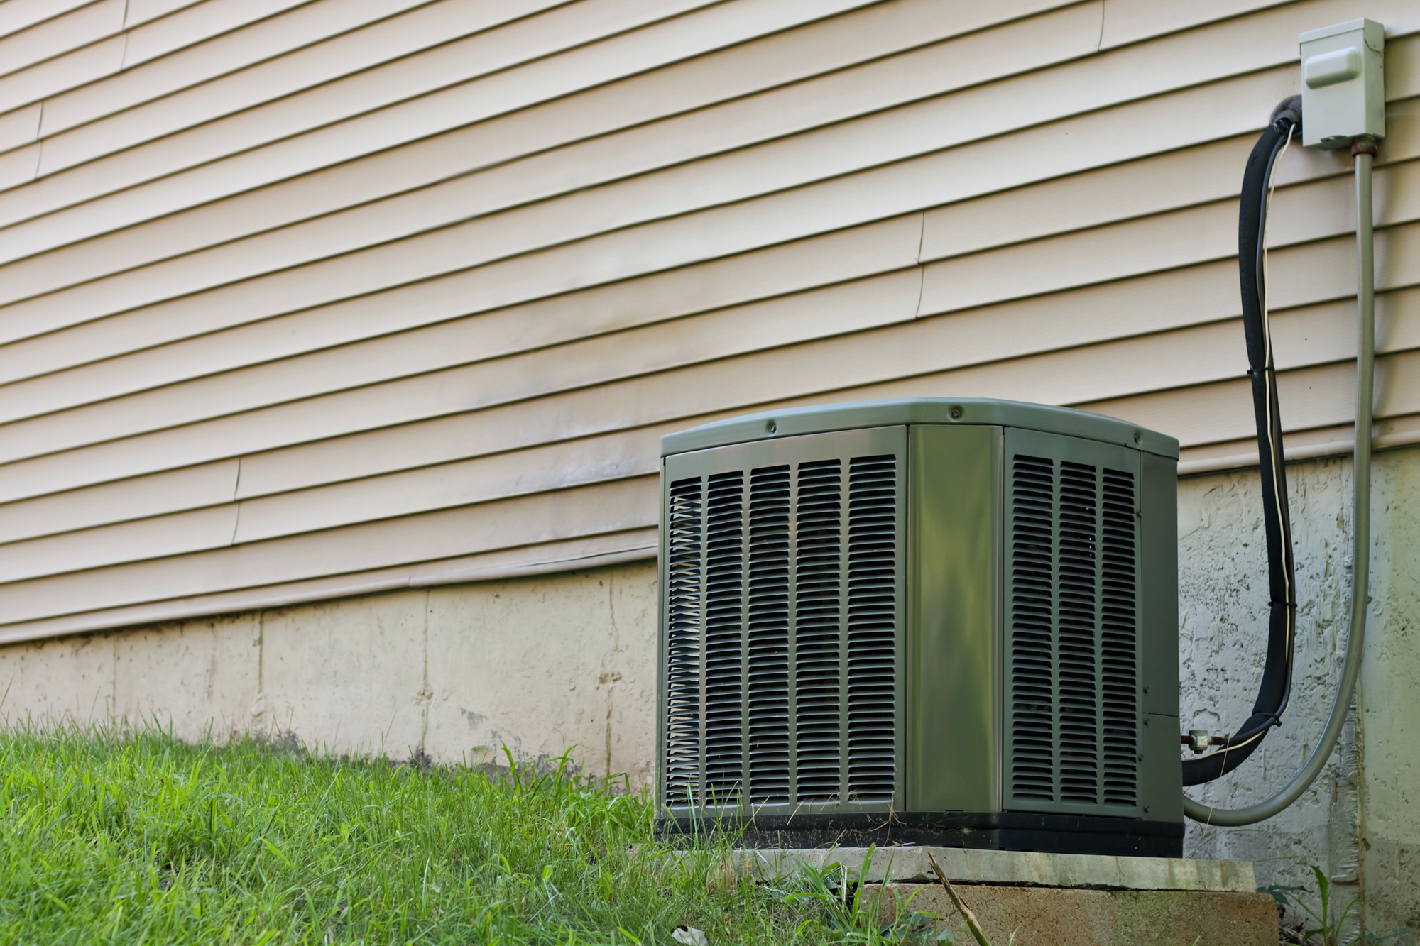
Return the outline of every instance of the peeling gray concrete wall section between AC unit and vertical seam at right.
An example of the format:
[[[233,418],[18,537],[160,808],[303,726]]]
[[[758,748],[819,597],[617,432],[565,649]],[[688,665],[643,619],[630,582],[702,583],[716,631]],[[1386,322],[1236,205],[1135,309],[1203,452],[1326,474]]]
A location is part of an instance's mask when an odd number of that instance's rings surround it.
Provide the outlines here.
[[[1252,804],[1291,781],[1322,730],[1339,679],[1350,599],[1350,463],[1292,464],[1288,489],[1298,580],[1292,699],[1282,726],[1248,761],[1190,790],[1218,807]],[[1251,716],[1267,652],[1267,541],[1255,470],[1179,483],[1179,591],[1180,724],[1235,732]],[[1315,888],[1311,865],[1318,865],[1349,901],[1359,892],[1356,749],[1352,720],[1340,750],[1301,801],[1261,830],[1190,821],[1184,854],[1254,861],[1261,885]]]

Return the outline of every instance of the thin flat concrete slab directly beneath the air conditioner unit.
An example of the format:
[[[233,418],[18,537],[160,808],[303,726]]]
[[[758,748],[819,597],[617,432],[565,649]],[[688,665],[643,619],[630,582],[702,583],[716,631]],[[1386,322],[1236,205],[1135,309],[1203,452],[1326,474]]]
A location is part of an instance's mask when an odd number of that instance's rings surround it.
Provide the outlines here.
[[[1093,854],[1039,854],[1035,851],[976,851],[970,848],[900,847],[824,849],[744,849],[761,876],[784,876],[799,864],[824,868],[842,864],[866,884],[932,882],[927,862],[936,857],[953,884],[1056,886],[1099,891],[1214,891],[1255,893],[1257,879],[1248,861],[1196,861],[1190,858],[1123,858]]]

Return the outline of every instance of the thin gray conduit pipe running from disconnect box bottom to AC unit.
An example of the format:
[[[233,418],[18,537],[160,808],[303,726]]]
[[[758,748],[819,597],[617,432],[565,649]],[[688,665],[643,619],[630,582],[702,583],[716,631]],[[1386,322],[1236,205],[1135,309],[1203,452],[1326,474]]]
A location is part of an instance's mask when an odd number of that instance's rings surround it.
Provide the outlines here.
[[[1366,643],[1366,612],[1370,602],[1370,428],[1375,398],[1376,349],[1376,284],[1372,240],[1370,172],[1376,153],[1372,138],[1358,138],[1352,145],[1356,156],[1356,300],[1360,310],[1360,334],[1356,349],[1356,450],[1352,466],[1352,572],[1350,572],[1350,632],[1346,639],[1346,659],[1342,663],[1340,685],[1332,700],[1331,714],[1316,749],[1306,764],[1279,793],[1247,808],[1211,808],[1183,797],[1183,812],[1194,821],[1235,828],[1257,824],[1278,814],[1302,797],[1321,774],[1350,712],[1360,676],[1360,658]]]

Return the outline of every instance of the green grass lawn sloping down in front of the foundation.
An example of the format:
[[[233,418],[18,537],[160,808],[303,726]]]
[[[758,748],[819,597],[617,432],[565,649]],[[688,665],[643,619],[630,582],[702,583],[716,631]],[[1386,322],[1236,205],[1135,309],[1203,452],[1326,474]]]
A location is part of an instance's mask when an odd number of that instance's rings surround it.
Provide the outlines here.
[[[835,875],[667,857],[619,783],[0,732],[0,943],[903,942]],[[841,875],[838,875],[841,876]],[[886,933],[886,940],[883,935]]]

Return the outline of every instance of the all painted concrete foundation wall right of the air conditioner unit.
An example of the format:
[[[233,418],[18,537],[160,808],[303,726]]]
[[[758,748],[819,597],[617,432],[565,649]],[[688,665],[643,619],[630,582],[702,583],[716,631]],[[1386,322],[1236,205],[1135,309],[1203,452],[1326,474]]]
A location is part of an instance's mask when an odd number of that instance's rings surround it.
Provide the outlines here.
[[[1186,849],[1251,859],[1264,885],[1315,888],[1315,864],[1338,885],[1336,895],[1349,901],[1365,889],[1370,932],[1409,926],[1420,933],[1420,450],[1377,453],[1372,476],[1373,605],[1360,724],[1353,710],[1339,751],[1289,810],[1257,828],[1190,822]],[[1190,790],[1223,807],[1258,801],[1292,778],[1322,730],[1340,675],[1349,619],[1350,460],[1292,464],[1288,486],[1299,595],[1292,702],[1284,726],[1251,760]],[[1251,712],[1267,635],[1255,470],[1180,480],[1179,562],[1183,724],[1233,732]]]

